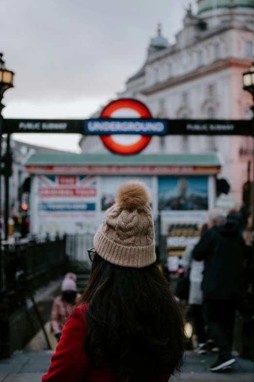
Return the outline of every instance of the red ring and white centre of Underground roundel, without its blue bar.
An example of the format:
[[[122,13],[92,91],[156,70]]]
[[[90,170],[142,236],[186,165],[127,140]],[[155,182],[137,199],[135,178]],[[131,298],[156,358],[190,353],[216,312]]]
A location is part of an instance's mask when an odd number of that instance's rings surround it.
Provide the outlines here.
[[[101,112],[101,118],[152,118],[144,103],[132,99],[110,102]],[[151,140],[147,135],[102,135],[104,145],[113,153],[130,155],[142,151]]]

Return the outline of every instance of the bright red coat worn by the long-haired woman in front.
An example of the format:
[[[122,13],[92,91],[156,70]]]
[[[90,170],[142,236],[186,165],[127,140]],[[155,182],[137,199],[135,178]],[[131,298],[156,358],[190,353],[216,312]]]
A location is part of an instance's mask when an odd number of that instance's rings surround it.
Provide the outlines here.
[[[85,352],[86,328],[83,312],[87,307],[75,308],[62,333],[51,359],[48,374],[42,382],[118,382],[110,368],[95,368]],[[83,311],[83,312],[82,312]],[[169,375],[163,381],[168,382]]]

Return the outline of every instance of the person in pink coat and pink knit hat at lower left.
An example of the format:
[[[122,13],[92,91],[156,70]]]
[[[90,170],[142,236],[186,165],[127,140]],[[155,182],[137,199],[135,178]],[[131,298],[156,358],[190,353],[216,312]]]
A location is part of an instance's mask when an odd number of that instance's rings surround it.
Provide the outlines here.
[[[77,302],[80,294],[77,293],[77,276],[67,273],[61,285],[61,296],[54,299],[51,311],[51,327],[55,338],[59,341],[63,328],[68,321],[73,303]]]

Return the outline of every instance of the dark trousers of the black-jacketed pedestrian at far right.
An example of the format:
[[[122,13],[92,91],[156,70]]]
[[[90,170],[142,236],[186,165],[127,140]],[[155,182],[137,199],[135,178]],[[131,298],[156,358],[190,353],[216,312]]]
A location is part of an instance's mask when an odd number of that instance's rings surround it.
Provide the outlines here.
[[[203,303],[208,337],[214,340],[221,357],[231,357],[235,303],[230,300],[206,300]]]

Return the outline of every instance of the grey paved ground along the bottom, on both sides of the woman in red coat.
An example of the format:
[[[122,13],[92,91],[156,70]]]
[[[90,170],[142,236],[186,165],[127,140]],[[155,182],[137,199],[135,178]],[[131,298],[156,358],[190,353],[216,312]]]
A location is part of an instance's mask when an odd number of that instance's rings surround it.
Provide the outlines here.
[[[11,358],[0,361],[0,382],[41,382],[47,373],[54,351],[18,351]],[[211,373],[208,371],[216,355],[200,356],[192,351],[186,353],[181,375],[172,382],[224,382],[254,381],[254,362],[236,358],[232,371]],[[171,381],[170,381],[171,382]]]

